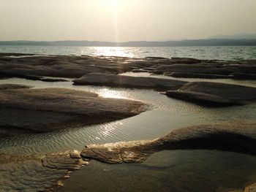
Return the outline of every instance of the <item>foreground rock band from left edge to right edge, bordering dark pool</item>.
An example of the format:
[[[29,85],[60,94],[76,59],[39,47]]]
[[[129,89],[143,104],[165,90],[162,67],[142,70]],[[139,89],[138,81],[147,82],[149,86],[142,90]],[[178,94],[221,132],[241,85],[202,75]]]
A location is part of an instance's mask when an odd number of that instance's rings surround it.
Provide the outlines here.
[[[108,164],[141,163],[161,150],[224,150],[256,155],[256,124],[202,125],[178,128],[148,141],[87,145],[48,155],[0,154],[1,191],[53,191],[90,159]],[[22,174],[23,177],[19,177]],[[37,175],[37,177],[34,177]],[[72,175],[71,175],[72,176]],[[15,180],[14,180],[15,178]],[[246,188],[255,190],[255,185]]]

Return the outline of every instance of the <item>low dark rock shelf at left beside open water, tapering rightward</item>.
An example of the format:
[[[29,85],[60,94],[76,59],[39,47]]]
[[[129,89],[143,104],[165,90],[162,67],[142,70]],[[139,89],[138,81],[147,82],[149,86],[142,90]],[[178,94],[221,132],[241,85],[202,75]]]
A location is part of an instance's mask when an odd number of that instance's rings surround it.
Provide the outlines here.
[[[28,79],[36,76],[78,78],[92,72],[119,74],[132,71],[135,67],[149,67],[158,61],[124,57],[20,56],[0,55],[0,74]]]

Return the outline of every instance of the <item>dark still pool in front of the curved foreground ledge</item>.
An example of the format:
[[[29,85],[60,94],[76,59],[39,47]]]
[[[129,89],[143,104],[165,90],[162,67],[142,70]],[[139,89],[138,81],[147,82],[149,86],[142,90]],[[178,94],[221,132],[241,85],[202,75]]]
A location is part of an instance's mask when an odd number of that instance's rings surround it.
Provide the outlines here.
[[[227,191],[256,180],[256,158],[217,150],[175,150],[142,164],[101,164],[72,174],[59,191]]]

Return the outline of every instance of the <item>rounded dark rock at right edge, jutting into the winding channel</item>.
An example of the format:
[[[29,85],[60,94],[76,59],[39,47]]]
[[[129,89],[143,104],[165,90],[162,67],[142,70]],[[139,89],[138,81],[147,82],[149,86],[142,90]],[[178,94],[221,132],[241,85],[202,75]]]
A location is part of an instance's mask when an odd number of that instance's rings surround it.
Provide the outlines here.
[[[256,100],[256,88],[220,82],[188,82],[166,95],[212,107],[248,104]]]

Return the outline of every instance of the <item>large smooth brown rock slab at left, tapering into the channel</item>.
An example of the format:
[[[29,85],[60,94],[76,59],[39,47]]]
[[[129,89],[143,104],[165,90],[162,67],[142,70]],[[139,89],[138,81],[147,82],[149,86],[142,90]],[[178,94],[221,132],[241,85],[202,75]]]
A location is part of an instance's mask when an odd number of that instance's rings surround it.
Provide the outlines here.
[[[138,115],[147,107],[64,88],[0,90],[0,106],[0,136],[104,123]]]

